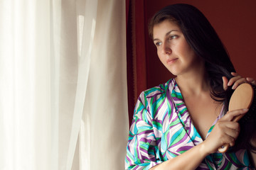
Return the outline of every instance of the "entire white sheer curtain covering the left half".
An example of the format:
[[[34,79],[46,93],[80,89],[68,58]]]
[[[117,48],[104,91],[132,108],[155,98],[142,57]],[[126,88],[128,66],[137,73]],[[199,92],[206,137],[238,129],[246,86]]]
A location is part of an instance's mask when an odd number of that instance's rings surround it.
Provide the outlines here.
[[[0,169],[124,169],[125,1],[0,1]]]

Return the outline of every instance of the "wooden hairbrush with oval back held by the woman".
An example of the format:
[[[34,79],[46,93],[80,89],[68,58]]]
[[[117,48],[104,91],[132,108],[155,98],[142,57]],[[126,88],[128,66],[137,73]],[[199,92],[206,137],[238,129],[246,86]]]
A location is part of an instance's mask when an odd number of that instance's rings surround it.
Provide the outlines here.
[[[231,98],[230,98],[230,102],[229,102],[229,106],[228,106],[228,111],[234,111],[237,109],[241,109],[241,108],[249,108],[251,110],[251,106],[252,103],[254,103],[254,98],[255,98],[255,86],[252,86],[251,84],[240,84],[235,91],[233,92]],[[255,104],[253,104],[255,105]],[[255,109],[255,108],[253,108]],[[250,114],[253,113],[253,111],[248,111],[245,114],[242,115],[238,115],[236,116],[232,121],[233,122],[238,122],[244,115],[245,118],[248,119],[250,118]],[[225,144],[222,147],[220,147],[218,149],[218,151],[220,153],[224,153],[228,151],[228,148],[230,147],[229,144]]]

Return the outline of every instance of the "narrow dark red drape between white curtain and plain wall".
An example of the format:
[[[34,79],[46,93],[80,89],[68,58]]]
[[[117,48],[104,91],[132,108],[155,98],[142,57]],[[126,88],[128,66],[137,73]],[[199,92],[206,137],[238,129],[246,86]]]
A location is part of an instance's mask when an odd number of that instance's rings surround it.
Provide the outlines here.
[[[145,12],[144,0],[126,0],[127,4],[127,81],[129,125],[134,106],[142,91],[148,88],[146,80]]]

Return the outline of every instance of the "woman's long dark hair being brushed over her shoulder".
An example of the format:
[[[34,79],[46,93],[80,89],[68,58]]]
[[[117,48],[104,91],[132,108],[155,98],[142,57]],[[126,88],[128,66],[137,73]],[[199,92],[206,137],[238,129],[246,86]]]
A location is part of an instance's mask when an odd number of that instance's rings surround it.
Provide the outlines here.
[[[196,55],[205,61],[211,97],[215,101],[223,102],[225,111],[228,111],[228,102],[233,90],[230,87],[227,90],[223,89],[222,77],[231,79],[233,77],[231,72],[235,72],[235,68],[213,26],[198,8],[188,4],[174,4],[162,8],[151,18],[149,22],[149,35],[151,38],[153,38],[154,26],[165,20],[172,21],[181,28],[188,45],[196,52]],[[242,121],[240,123],[241,130],[246,130],[240,133],[233,150],[256,150],[250,144],[250,139],[248,138],[252,136],[249,134],[250,130],[247,131],[254,124],[255,122],[246,123]],[[245,136],[247,136],[246,140]]]

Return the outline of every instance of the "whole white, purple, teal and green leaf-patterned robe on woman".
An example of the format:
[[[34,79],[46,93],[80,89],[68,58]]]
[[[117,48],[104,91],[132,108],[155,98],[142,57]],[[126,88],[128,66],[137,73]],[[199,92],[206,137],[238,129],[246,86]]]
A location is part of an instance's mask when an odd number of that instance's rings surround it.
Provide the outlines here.
[[[219,117],[213,123],[222,118]],[[207,135],[207,136],[208,136]],[[203,142],[175,79],[142,92],[129,132],[125,169],[150,169]],[[246,150],[208,155],[198,169],[250,169]]]

